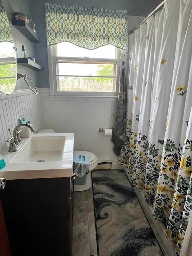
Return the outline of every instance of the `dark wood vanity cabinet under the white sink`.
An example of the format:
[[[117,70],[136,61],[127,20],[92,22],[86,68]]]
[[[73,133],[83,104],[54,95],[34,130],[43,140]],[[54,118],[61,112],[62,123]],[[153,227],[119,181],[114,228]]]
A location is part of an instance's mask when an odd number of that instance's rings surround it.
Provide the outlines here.
[[[7,180],[0,197],[12,256],[72,254],[71,177]]]

